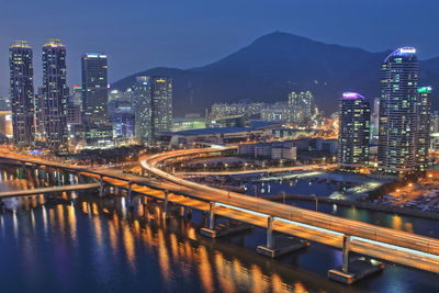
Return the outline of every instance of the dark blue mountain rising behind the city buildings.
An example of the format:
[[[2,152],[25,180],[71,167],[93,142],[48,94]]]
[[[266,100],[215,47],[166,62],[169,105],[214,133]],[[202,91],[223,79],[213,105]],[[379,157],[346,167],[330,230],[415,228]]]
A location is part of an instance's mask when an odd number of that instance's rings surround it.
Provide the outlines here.
[[[175,114],[200,112],[215,102],[286,100],[291,91],[311,90],[326,114],[337,111],[344,91],[373,99],[379,94],[380,65],[391,53],[371,53],[275,32],[203,67],[154,68],[112,84],[124,90],[139,75],[175,80]],[[439,84],[439,58],[420,61],[420,84]]]

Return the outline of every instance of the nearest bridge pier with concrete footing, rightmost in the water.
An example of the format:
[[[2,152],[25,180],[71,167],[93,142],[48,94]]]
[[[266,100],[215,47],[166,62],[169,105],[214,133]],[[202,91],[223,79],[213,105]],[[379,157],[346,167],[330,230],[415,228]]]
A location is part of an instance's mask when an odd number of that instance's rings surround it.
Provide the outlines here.
[[[344,235],[341,268],[329,270],[328,279],[350,285],[384,269],[383,262],[367,260],[364,257],[349,261],[350,243],[351,236]]]

